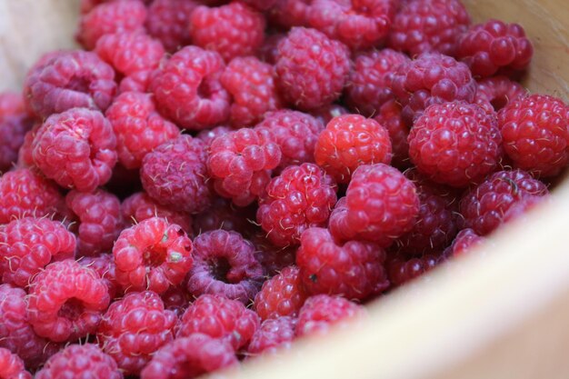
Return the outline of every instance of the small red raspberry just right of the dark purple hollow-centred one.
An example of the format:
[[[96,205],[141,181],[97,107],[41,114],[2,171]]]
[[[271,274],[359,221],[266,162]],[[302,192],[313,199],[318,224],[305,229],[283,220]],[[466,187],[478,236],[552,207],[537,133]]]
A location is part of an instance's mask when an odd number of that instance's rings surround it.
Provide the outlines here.
[[[283,271],[268,279],[255,296],[255,311],[262,320],[296,317],[306,297],[299,269],[284,267]]]

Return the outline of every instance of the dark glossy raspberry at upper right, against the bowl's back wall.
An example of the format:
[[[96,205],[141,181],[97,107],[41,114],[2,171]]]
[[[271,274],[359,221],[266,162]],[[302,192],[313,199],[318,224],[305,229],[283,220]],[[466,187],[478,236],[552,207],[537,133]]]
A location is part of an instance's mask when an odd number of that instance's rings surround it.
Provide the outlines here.
[[[494,19],[473,25],[458,41],[458,58],[476,76],[492,76],[501,68],[523,71],[532,55],[534,47],[521,25]]]

